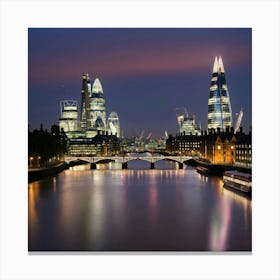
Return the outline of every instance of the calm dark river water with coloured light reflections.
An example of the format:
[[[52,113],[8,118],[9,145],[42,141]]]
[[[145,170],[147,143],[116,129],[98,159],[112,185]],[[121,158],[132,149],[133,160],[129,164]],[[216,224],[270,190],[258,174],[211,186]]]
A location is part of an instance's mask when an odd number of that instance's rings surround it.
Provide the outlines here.
[[[89,165],[28,186],[29,251],[251,251],[251,199],[160,161]]]

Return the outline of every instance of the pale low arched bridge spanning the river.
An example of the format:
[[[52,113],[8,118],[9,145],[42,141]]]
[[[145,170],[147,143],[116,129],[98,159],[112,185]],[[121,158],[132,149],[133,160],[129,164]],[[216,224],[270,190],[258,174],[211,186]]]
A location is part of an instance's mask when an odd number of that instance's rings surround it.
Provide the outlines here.
[[[104,161],[115,161],[122,163],[122,169],[127,169],[127,163],[132,160],[144,160],[148,161],[151,164],[151,169],[155,168],[155,163],[160,160],[169,160],[173,162],[177,162],[179,165],[179,169],[183,169],[183,163],[189,159],[192,159],[191,156],[96,156],[96,157],[88,157],[88,156],[66,156],[65,162],[67,164],[73,161],[84,161],[91,164],[91,169],[96,169],[96,164],[104,162]]]

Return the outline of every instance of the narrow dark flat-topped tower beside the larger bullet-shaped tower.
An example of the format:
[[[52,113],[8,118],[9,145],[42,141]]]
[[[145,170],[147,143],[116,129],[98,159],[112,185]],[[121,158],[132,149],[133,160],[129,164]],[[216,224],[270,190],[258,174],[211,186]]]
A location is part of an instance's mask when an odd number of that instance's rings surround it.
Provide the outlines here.
[[[82,100],[81,100],[81,113],[80,113],[80,125],[82,130],[86,130],[90,125],[89,109],[90,109],[90,96],[91,96],[91,84],[88,74],[83,74],[82,81]]]

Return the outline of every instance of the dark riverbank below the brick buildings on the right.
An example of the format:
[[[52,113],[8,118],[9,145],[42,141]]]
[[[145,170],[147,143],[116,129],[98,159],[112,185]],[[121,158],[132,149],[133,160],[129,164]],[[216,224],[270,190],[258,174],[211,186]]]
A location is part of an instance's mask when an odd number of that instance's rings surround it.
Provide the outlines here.
[[[252,173],[252,168],[237,166],[234,164],[211,164],[200,160],[191,159],[188,162],[186,162],[187,165],[196,167],[196,166],[202,166],[208,169],[209,174],[216,175],[216,176],[223,176],[223,173],[228,170],[237,170],[239,172],[244,173]]]

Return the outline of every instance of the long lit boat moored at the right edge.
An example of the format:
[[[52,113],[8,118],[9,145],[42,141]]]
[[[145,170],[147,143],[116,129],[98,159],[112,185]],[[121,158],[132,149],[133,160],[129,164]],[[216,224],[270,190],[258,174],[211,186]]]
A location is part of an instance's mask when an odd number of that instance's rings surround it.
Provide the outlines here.
[[[230,187],[244,193],[251,193],[252,175],[236,170],[225,171],[223,175],[224,186]]]

